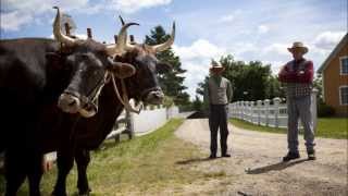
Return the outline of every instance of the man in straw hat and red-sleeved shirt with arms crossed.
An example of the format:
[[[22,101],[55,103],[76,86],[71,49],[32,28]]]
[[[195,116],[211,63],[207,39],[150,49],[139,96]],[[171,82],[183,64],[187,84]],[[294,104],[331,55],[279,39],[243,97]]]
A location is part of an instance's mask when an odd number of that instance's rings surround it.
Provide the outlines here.
[[[294,42],[291,48],[294,60],[286,63],[278,79],[286,86],[287,113],[288,113],[288,154],[283,161],[300,157],[298,151],[298,119],[301,119],[304,130],[304,140],[309,160],[315,160],[314,132],[311,114],[311,91],[313,82],[313,63],[303,58],[308,48],[302,42]]]

